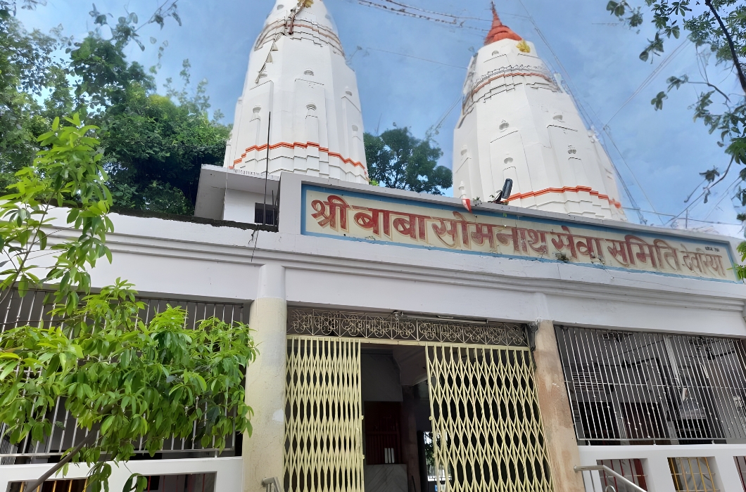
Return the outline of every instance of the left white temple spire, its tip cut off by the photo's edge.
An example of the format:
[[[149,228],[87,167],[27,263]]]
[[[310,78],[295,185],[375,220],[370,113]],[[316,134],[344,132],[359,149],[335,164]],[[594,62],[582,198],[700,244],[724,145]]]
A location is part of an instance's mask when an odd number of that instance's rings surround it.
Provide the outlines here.
[[[267,16],[224,165],[368,182],[357,80],[322,0],[278,0]]]

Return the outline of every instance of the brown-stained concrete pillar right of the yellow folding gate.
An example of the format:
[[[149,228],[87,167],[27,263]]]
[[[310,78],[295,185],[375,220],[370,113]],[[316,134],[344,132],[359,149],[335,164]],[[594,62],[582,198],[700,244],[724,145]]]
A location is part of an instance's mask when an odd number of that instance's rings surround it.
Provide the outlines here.
[[[540,321],[536,332],[536,391],[542,412],[555,492],[583,491],[583,477],[573,467],[580,465],[580,452],[572,425],[570,400],[562,376],[560,351],[552,321]]]

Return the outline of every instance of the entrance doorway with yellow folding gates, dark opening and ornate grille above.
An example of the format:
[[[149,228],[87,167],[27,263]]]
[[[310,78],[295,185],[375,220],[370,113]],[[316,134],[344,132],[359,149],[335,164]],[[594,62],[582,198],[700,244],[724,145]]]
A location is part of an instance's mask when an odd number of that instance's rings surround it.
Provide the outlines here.
[[[524,325],[402,318],[289,313],[285,491],[551,492]]]

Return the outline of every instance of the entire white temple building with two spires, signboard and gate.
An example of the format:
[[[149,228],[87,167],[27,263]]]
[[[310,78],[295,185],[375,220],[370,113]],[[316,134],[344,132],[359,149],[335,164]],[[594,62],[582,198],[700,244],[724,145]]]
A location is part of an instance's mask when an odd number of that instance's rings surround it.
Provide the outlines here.
[[[160,492],[746,491],[739,240],[627,221],[595,131],[492,17],[442,197],[369,184],[330,11],[272,6],[195,217],[114,214],[113,263],[92,271],[148,312],[250,324],[254,430],[225,450],[136,445],[112,490],[137,472]],[[44,294],[7,299],[3,327]],[[55,411],[44,443],[0,442],[0,490],[82,439]]]

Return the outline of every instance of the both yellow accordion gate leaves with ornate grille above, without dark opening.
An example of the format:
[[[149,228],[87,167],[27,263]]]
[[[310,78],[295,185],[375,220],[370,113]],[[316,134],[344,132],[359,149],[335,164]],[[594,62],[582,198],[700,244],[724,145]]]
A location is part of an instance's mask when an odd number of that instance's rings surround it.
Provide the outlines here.
[[[360,327],[356,338],[343,329],[351,316]],[[374,336],[363,334],[371,319]],[[289,312],[286,491],[364,490],[360,344],[398,338],[380,336],[382,324],[385,318],[365,313]],[[427,353],[439,491],[553,490],[530,350],[519,325],[500,325],[504,331],[495,338],[521,346],[400,338]]]

